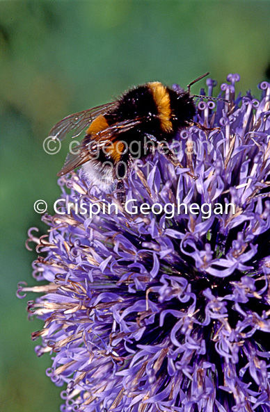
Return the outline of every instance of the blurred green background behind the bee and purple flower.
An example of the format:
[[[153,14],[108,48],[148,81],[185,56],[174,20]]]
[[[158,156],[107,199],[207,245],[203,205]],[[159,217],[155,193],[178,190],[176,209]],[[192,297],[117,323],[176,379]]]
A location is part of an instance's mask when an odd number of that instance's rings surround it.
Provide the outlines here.
[[[35,252],[26,232],[46,227],[33,204],[52,205],[55,156],[42,149],[51,126],[75,111],[110,101],[129,86],[159,80],[185,86],[207,71],[238,91],[269,74],[269,1],[1,1],[1,406],[5,412],[58,411],[61,399],[38,359],[18,281],[33,285]],[[195,85],[199,92],[204,81]],[[216,89],[216,93],[218,90]],[[39,342],[38,342],[39,344]]]

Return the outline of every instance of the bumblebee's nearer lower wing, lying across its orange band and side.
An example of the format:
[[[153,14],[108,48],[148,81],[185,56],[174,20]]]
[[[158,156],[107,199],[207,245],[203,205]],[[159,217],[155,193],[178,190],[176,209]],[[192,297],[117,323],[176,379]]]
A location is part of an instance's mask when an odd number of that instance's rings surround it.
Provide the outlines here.
[[[133,127],[141,124],[142,120],[143,117],[136,117],[135,119],[124,120],[123,122],[111,124],[111,126],[107,127],[106,129],[99,131],[98,133],[95,133],[93,135],[90,135],[90,139],[89,136],[86,136],[86,138],[82,140],[81,145],[77,146],[74,149],[74,151],[76,150],[77,152],[76,154],[67,154],[67,158],[65,159],[65,165],[63,165],[62,169],[60,170],[60,172],[58,172],[57,176],[63,176],[64,174],[75,169],[76,167],[79,167],[84,163],[88,162],[88,160],[91,160],[91,158],[96,158],[95,153],[93,153],[93,147],[91,147],[90,149],[88,148],[90,141],[93,142],[93,140],[95,140],[95,152],[98,154],[100,153],[100,150],[102,150],[102,147],[116,140],[116,138],[118,138],[118,136],[121,133],[129,131]]]

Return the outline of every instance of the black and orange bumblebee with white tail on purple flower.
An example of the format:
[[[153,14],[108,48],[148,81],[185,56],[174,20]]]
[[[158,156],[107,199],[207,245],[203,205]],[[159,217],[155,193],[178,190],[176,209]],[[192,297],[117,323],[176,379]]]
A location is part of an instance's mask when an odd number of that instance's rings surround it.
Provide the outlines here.
[[[109,104],[65,117],[51,129],[52,138],[62,140],[70,131],[73,131],[72,137],[77,137],[85,129],[86,135],[76,153],[67,155],[57,176],[82,165],[86,180],[100,189],[109,192],[117,183],[118,192],[122,192],[118,199],[123,201],[122,180],[134,158],[131,147],[134,142],[140,143],[141,151],[136,158],[145,157],[148,154],[148,150],[144,150],[145,137],[159,147],[170,162],[183,167],[168,146],[164,149],[164,142],[170,142],[178,131],[192,124],[196,114],[193,97],[200,96],[191,95],[190,87],[207,74],[190,83],[186,91],[176,91],[154,81],[128,90]]]

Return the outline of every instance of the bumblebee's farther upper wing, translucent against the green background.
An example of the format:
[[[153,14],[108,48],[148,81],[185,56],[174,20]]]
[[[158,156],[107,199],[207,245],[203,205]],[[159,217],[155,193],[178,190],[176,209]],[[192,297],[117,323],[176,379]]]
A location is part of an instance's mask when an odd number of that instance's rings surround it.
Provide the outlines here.
[[[63,140],[67,133],[74,131],[72,138],[76,138],[97,116],[106,113],[109,109],[113,108],[113,106],[116,106],[116,104],[117,101],[112,101],[111,103],[102,104],[101,106],[69,115],[54,125],[49,132],[49,136]]]

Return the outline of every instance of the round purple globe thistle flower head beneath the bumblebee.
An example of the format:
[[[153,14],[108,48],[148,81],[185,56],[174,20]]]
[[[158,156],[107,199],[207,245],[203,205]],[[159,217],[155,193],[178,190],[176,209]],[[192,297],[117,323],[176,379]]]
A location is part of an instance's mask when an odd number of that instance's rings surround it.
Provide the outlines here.
[[[127,179],[138,205],[210,204],[209,216],[59,210],[42,217],[47,236],[29,231],[42,253],[33,277],[46,284],[19,283],[18,295],[41,294],[28,304],[44,321],[32,338],[66,385],[62,412],[270,410],[270,85],[257,100],[235,97],[237,81],[221,85],[230,104],[199,101],[197,126],[180,132],[178,158],[196,181],[158,153],[150,173]],[[114,199],[80,170],[59,186],[62,205]]]

